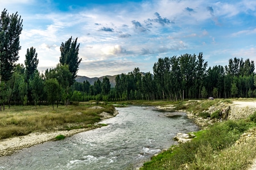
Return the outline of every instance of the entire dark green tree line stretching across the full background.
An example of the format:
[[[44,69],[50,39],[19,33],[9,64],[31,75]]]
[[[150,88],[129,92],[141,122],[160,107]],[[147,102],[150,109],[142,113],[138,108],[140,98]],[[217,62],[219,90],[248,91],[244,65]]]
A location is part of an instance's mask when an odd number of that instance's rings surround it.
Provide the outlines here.
[[[115,87],[105,77],[94,84],[76,82],[81,58],[77,38],[60,45],[60,59],[55,68],[39,73],[36,49],[27,49],[23,64],[16,65],[20,50],[19,35],[22,19],[3,10],[0,19],[0,105],[11,104],[35,107],[50,104],[68,105],[79,101],[122,100],[184,100],[255,97],[256,76],[254,61],[231,58],[228,65],[208,67],[203,53],[159,58],[153,73],[142,74],[134,68],[128,74],[115,77]],[[2,109],[0,108],[0,110]]]

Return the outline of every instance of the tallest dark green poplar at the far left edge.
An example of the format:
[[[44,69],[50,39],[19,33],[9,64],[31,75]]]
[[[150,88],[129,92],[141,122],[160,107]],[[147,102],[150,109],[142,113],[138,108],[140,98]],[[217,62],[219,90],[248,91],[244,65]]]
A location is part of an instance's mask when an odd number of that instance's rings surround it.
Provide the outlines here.
[[[3,81],[11,78],[19,59],[19,35],[23,25],[17,13],[9,15],[4,9],[0,18],[0,80]]]

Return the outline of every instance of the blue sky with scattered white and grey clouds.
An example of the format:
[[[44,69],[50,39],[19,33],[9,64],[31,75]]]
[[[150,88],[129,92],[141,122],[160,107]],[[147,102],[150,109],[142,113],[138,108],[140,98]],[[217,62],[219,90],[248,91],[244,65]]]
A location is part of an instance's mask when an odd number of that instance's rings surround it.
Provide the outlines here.
[[[256,1],[0,0],[23,19],[18,63],[38,53],[38,70],[56,67],[60,44],[80,43],[78,75],[150,71],[158,58],[203,52],[209,66],[238,57],[256,62]]]

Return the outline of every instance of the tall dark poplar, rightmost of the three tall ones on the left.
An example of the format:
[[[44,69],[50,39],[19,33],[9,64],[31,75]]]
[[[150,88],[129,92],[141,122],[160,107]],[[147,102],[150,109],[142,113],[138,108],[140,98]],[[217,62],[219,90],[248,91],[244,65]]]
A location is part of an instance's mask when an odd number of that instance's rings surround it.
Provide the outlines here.
[[[72,78],[69,80],[69,87],[75,83],[77,77],[77,71],[79,70],[79,65],[82,59],[79,59],[79,45],[77,45],[77,38],[72,41],[72,37],[68,39],[65,43],[61,43],[60,46],[60,64],[68,65],[69,72],[72,74]]]

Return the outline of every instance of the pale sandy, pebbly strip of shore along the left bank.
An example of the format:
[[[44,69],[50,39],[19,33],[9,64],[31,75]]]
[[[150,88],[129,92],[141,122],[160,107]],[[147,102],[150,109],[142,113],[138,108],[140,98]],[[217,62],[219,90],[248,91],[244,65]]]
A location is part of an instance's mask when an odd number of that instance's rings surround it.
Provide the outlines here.
[[[90,109],[102,109],[102,107],[94,106]],[[114,114],[109,114],[106,112],[102,112],[100,114],[101,120],[106,118],[114,117],[118,114],[117,110],[114,111]],[[57,135],[64,135],[65,137],[71,137],[74,134],[81,133],[83,131],[92,130],[95,128],[100,128],[100,124],[92,125],[88,128],[81,129],[72,129],[72,130],[53,130],[48,132],[35,132],[30,133],[28,135],[23,135],[20,137],[12,137],[7,139],[0,140],[0,156],[11,155],[15,152],[19,152],[23,148],[28,148],[34,145],[38,145],[40,143],[44,143],[47,141],[55,140]]]

